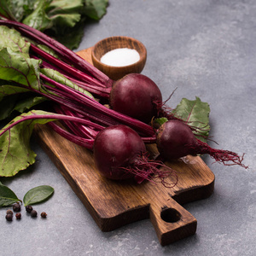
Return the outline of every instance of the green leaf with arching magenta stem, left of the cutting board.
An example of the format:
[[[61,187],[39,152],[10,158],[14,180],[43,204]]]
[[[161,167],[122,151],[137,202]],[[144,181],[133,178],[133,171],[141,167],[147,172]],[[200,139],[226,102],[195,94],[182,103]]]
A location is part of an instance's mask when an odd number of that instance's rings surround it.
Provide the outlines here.
[[[0,130],[0,176],[12,177],[35,162],[36,155],[30,148],[32,130],[36,124],[53,121],[40,110],[22,113]]]

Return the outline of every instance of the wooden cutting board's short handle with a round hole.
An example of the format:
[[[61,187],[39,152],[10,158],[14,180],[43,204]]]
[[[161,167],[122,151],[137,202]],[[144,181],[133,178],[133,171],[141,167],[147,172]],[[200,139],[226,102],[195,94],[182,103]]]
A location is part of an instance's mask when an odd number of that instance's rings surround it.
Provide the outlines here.
[[[149,217],[162,246],[195,234],[197,220],[172,198],[151,203]]]

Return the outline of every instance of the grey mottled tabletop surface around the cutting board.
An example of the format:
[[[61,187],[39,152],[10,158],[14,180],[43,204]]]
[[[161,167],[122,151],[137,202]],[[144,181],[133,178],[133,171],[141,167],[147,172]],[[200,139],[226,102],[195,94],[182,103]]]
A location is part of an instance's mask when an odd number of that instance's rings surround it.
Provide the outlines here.
[[[124,35],[148,49],[143,74],[159,84],[170,107],[199,96],[211,107],[219,148],[246,153],[245,170],[203,159],[216,176],[213,195],[184,207],[198,220],[195,236],[161,247],[149,220],[103,233],[44,151],[37,162],[1,181],[23,197],[48,184],[55,195],[38,212],[48,218],[7,223],[0,209],[1,255],[255,255],[256,2],[253,0],[110,0],[108,14],[88,25],[79,49]],[[215,144],[212,146],[216,147]]]

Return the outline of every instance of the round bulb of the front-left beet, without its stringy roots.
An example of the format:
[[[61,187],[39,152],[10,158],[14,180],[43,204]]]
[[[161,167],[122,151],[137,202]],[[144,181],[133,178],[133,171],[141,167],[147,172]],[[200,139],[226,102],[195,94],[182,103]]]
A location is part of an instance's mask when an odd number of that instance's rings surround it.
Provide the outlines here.
[[[103,176],[111,179],[132,177],[123,167],[130,166],[137,155],[146,152],[137,132],[125,125],[113,125],[100,131],[94,143],[94,159]]]

